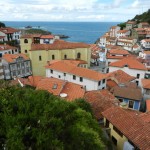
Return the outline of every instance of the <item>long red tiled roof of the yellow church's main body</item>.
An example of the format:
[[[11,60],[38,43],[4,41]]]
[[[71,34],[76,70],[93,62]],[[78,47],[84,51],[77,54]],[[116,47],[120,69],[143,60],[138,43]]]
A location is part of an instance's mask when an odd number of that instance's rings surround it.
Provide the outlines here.
[[[75,48],[89,48],[90,46],[85,43],[73,43],[63,40],[55,40],[52,44],[32,44],[31,51],[34,50],[63,50]]]

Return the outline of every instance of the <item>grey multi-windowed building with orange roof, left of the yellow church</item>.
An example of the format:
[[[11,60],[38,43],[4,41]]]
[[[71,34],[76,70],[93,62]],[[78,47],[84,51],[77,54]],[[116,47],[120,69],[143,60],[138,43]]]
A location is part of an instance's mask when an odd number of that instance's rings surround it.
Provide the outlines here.
[[[32,74],[30,59],[24,54],[5,54],[2,57],[2,65],[6,80]]]

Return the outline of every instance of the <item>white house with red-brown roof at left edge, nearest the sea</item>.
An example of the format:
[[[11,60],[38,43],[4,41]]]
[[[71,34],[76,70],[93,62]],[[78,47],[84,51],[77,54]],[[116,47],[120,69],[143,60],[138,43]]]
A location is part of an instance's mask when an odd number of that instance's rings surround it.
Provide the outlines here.
[[[17,40],[19,42],[21,31],[10,27],[0,28],[0,36],[3,37],[1,38],[2,42],[12,40]]]

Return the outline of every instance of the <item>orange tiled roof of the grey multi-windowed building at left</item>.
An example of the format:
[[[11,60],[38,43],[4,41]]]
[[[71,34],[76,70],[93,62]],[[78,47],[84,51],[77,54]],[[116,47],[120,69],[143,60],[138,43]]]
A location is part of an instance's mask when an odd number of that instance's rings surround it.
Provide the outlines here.
[[[23,57],[25,60],[29,60],[29,58],[25,54],[4,54],[2,58],[7,62],[12,63],[18,57]]]

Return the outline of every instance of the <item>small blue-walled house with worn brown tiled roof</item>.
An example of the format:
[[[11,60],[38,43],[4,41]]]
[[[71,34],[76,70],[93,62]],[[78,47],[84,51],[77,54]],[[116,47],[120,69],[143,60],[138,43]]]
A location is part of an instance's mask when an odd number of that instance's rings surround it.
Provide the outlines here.
[[[137,87],[136,83],[120,84],[113,87],[110,91],[121,102],[120,105],[133,110],[140,110],[143,96],[141,89]]]

